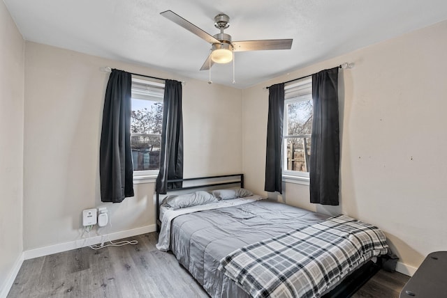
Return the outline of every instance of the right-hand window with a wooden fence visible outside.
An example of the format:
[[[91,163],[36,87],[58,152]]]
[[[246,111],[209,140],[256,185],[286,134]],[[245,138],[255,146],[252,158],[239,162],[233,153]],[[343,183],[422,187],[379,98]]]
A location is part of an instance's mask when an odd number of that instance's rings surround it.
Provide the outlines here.
[[[284,87],[283,175],[309,178],[312,77]]]

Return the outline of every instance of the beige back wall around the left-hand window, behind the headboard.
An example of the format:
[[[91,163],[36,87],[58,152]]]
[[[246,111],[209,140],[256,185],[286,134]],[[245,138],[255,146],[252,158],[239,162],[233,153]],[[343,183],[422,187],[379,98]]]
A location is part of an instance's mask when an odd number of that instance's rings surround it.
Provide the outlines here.
[[[27,42],[25,57],[25,250],[80,239],[86,208],[108,207],[112,226],[103,233],[155,223],[154,183],[135,185],[135,197],[123,203],[101,203],[104,66],[186,81],[185,177],[242,170],[241,91],[34,42]]]

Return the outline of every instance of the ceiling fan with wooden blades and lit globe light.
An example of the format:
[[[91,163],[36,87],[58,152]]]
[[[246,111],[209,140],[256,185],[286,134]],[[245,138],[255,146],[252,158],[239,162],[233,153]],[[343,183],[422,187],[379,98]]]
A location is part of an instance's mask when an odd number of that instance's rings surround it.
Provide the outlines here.
[[[175,24],[182,26],[184,29],[191,31],[196,34],[196,36],[211,43],[211,54],[207,57],[200,70],[209,70],[214,63],[228,63],[232,61],[233,52],[258,51],[265,49],[291,49],[292,47],[292,39],[232,41],[229,34],[223,33],[223,30],[230,26],[230,17],[224,13],[214,17],[214,26],[221,31],[221,33],[217,33],[214,36],[211,36],[198,26],[188,22],[172,10],[163,11],[160,15],[163,15],[163,17],[170,19],[175,22]]]

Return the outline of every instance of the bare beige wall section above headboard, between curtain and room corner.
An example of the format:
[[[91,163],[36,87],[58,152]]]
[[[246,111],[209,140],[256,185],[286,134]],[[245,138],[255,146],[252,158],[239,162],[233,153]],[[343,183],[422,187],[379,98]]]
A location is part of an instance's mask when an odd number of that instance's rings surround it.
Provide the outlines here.
[[[183,87],[184,176],[242,171],[242,91],[186,79]]]

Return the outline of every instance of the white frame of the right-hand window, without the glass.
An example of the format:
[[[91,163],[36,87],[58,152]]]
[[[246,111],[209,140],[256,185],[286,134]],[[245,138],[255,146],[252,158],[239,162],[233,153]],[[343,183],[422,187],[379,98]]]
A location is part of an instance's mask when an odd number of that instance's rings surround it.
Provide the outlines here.
[[[307,88],[303,88],[307,87]],[[303,91],[298,89],[303,88]],[[309,89],[310,88],[310,89]],[[297,139],[297,138],[310,138],[309,134],[299,134],[299,135],[288,135],[288,113],[287,105],[294,102],[303,102],[307,100],[312,100],[312,77],[307,77],[305,79],[300,79],[294,84],[289,84],[284,86],[285,99],[284,99],[284,120],[283,120],[283,141],[282,147],[282,180],[284,182],[291,182],[302,185],[309,185],[309,172],[302,171],[291,171],[287,169],[287,139]]]

